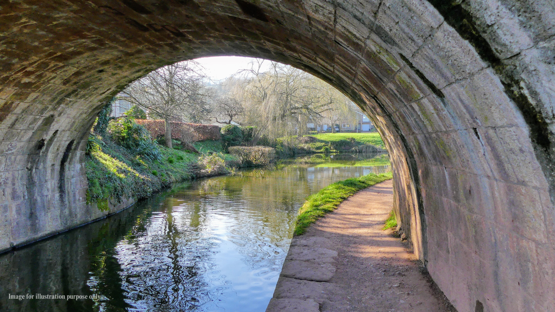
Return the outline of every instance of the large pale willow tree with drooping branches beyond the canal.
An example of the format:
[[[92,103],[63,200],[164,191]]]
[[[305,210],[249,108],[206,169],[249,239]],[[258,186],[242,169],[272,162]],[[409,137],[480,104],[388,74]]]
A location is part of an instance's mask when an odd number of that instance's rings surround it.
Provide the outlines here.
[[[268,61],[257,59],[227,79],[224,92],[244,103],[242,124],[256,125],[269,139],[306,134],[306,123],[320,123],[347,107],[345,95],[321,79],[276,62],[262,71],[263,62]]]

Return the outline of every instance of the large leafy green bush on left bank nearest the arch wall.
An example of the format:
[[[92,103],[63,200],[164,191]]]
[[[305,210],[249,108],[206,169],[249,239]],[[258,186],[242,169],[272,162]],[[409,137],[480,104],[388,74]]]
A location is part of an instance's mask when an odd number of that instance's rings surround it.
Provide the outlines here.
[[[162,157],[158,144],[150,138],[148,130],[130,118],[122,118],[110,123],[109,132],[114,142],[150,160]]]

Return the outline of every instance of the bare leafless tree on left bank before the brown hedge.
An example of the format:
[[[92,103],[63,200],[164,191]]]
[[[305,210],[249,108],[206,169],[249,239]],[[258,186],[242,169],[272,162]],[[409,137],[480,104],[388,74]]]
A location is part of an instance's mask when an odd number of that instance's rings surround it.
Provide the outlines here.
[[[159,68],[131,83],[123,93],[126,100],[148,110],[150,117],[164,119],[165,143],[171,148],[170,120],[200,122],[209,112],[208,99],[213,90],[205,84],[204,74],[195,70],[194,61]]]

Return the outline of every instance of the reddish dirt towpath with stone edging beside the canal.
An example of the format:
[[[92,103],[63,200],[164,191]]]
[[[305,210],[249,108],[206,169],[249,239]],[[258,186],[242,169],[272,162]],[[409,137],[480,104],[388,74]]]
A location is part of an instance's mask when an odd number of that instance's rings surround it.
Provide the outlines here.
[[[382,230],[388,180],[345,200],[296,236],[266,312],[453,311],[408,245]]]

